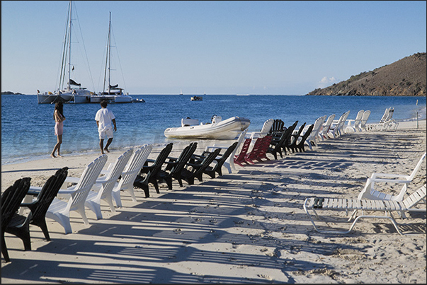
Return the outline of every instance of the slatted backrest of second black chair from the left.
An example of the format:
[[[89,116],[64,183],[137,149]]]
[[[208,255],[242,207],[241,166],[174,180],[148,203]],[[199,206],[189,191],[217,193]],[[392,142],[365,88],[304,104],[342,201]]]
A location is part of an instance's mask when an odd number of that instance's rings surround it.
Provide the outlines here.
[[[31,209],[33,219],[38,220],[45,217],[47,209],[52,204],[53,199],[57,196],[59,189],[68,175],[68,168],[64,167],[52,175],[43,185],[36,199],[36,207]]]

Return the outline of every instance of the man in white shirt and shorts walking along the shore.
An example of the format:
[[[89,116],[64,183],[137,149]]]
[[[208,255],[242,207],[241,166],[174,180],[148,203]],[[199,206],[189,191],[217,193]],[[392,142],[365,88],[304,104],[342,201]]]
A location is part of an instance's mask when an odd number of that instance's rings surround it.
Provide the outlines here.
[[[110,146],[113,141],[113,126],[111,122],[114,124],[114,132],[117,131],[117,127],[115,126],[115,117],[113,112],[107,109],[108,102],[106,100],[101,101],[101,109],[96,112],[95,120],[96,125],[98,126],[99,133],[99,147],[101,148],[101,154],[104,154],[104,151],[108,151],[108,146]],[[104,148],[104,139],[108,137],[108,141],[106,147]]]

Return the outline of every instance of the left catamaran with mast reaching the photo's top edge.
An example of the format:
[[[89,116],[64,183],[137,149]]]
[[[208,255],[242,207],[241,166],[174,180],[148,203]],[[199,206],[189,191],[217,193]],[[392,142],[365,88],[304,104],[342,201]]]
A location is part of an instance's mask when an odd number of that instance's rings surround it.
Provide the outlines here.
[[[62,67],[61,74],[59,74],[58,89],[54,92],[37,93],[37,100],[39,104],[46,103],[89,103],[91,99],[91,91],[88,91],[86,87],[81,87],[80,83],[77,83],[71,78],[71,73],[74,71],[74,66],[71,64],[72,54],[72,1],[69,1],[68,6],[68,24],[65,30],[64,45],[62,50]],[[64,88],[65,84],[65,73],[67,72],[67,87]]]

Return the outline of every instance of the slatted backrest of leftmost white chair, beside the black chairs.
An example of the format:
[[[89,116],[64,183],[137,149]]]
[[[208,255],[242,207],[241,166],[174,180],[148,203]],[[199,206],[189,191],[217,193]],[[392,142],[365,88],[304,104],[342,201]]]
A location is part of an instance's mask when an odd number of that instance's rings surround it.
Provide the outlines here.
[[[72,197],[68,201],[67,207],[69,211],[72,211],[77,206],[84,204],[88,197],[89,190],[95,184],[96,178],[101,174],[101,170],[106,165],[108,156],[103,154],[94,161],[89,163],[81,173],[79,182],[77,183],[74,192],[71,194]]]

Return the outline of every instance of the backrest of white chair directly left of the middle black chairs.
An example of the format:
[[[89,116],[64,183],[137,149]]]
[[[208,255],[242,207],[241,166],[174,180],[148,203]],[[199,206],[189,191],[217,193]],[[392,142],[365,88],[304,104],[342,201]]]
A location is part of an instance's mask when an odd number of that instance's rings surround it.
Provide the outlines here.
[[[140,173],[142,165],[147,161],[152,149],[152,144],[145,144],[144,146],[141,146],[140,149],[134,151],[122,172],[122,178],[119,180],[118,187],[120,187],[120,190],[128,189],[129,187],[133,188],[133,182],[135,181],[135,178],[137,178],[138,173]]]

